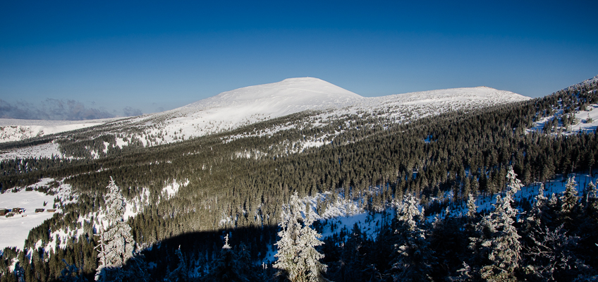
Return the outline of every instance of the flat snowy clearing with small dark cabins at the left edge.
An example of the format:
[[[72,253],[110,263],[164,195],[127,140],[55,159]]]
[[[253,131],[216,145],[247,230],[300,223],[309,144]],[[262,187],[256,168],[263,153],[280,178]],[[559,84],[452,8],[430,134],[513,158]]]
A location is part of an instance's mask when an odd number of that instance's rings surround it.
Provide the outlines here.
[[[28,187],[47,186],[52,181],[54,179],[43,178],[39,183]],[[0,194],[0,209],[13,209],[16,207],[25,209],[23,214],[16,214],[8,218],[0,216],[0,250],[4,250],[4,247],[18,247],[23,250],[23,244],[29,235],[29,231],[39,226],[46,219],[54,216],[54,213],[47,212],[47,210],[36,213],[35,209],[52,209],[56,197],[62,199],[63,203],[68,202],[68,199],[71,197],[70,185],[61,184],[58,188],[54,188],[54,190],[59,191],[59,193],[56,195],[46,195],[35,190],[26,191],[22,189],[19,192],[9,191]],[[44,202],[46,203],[45,206]],[[62,210],[57,207],[56,213],[61,212]]]

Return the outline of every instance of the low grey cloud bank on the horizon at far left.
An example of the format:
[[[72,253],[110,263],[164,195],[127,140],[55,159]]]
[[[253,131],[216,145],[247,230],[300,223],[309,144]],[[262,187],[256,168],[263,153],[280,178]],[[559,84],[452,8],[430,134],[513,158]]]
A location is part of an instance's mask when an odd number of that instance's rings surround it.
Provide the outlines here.
[[[140,109],[127,106],[123,109],[124,116],[139,116]],[[49,121],[83,121],[97,118],[114,118],[119,115],[116,111],[88,108],[82,102],[75,100],[46,99],[41,106],[29,102],[18,101],[9,103],[0,99],[0,118],[42,119]]]

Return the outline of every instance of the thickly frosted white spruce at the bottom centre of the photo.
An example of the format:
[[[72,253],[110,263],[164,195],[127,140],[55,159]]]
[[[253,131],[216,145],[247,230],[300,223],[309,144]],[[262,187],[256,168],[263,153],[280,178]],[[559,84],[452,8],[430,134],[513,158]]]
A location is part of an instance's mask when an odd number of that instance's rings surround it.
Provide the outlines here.
[[[319,262],[324,255],[315,249],[324,244],[319,240],[322,235],[310,227],[315,221],[315,214],[311,208],[307,208],[303,218],[301,205],[295,191],[288,205],[283,207],[279,223],[280,240],[275,244],[278,253],[274,267],[280,270],[279,275],[286,276],[289,281],[327,281],[322,276],[327,266]]]

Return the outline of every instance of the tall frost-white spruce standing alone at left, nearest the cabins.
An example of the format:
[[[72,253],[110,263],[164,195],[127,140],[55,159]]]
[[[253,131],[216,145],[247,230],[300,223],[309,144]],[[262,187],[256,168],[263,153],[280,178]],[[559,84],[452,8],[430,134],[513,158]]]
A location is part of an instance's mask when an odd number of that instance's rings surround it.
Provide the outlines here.
[[[105,198],[108,230],[99,234],[97,245],[99,259],[96,281],[122,281],[126,273],[122,267],[128,259],[133,257],[135,240],[131,235],[131,228],[124,221],[125,200],[114,180],[110,178],[108,194]]]

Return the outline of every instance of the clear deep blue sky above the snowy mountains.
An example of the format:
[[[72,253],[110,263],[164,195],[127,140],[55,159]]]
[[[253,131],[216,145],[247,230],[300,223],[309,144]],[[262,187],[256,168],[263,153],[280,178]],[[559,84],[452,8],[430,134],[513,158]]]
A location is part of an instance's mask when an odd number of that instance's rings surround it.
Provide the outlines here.
[[[598,1],[414,2],[1,0],[0,111],[150,113],[303,76],[540,97],[598,75]]]

